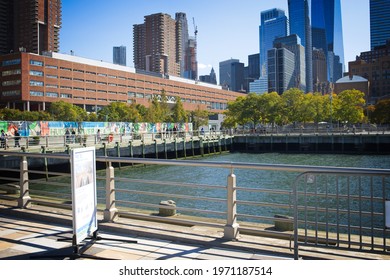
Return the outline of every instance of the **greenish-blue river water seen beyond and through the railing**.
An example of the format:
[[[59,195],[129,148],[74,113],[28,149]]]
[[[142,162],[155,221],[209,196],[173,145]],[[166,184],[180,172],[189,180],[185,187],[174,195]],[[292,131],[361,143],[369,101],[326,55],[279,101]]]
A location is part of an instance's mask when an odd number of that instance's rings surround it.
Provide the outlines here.
[[[288,165],[311,165],[311,166],[337,166],[337,167],[358,167],[358,168],[383,168],[390,169],[390,157],[389,156],[378,156],[378,155],[318,155],[318,154],[278,154],[278,153],[267,153],[267,154],[244,154],[244,153],[227,153],[223,155],[207,156],[204,158],[197,158],[199,161],[223,161],[223,162],[245,162],[245,163],[264,163],[264,164],[288,164]],[[158,205],[162,200],[172,199],[176,202],[178,207],[195,209],[193,211],[180,210],[182,214],[207,216],[225,219],[224,214],[204,214],[197,210],[212,210],[217,212],[226,211],[226,203],[209,201],[208,198],[226,198],[225,189],[210,189],[210,188],[191,188],[181,187],[180,183],[192,183],[192,184],[207,184],[216,186],[226,186],[227,176],[230,170],[223,168],[206,168],[206,167],[181,167],[181,166],[146,166],[146,167],[122,167],[121,169],[115,169],[115,177],[125,177],[132,179],[146,179],[154,180],[157,182],[172,182],[171,185],[155,185],[151,183],[133,183],[133,182],[115,182],[115,188],[142,191],[143,194],[137,193],[126,193],[117,192],[116,199],[124,201],[133,201],[138,203],[149,203]],[[259,189],[270,189],[270,190],[285,190],[291,192],[292,182],[295,180],[298,173],[294,172],[280,172],[280,171],[256,171],[248,169],[235,169],[234,174],[237,178],[237,186],[243,188],[251,188],[254,190]],[[105,176],[105,171],[98,171],[98,176]],[[59,179],[69,180],[66,178]],[[333,190],[338,184],[334,179],[318,178],[318,182],[325,181],[329,191]],[[326,181],[328,180],[328,181]],[[340,181],[340,190],[343,190],[342,180]],[[363,182],[363,188],[367,183],[367,187],[361,191],[362,194],[371,195],[371,188],[369,182]],[[98,180],[98,187],[104,189],[104,180]],[[379,182],[380,183],[380,182]],[[177,184],[177,185],[175,185]],[[350,181],[351,189],[357,188],[357,182]],[[312,185],[308,185],[309,191]],[[345,188],[344,188],[345,189]],[[313,192],[315,190],[312,190]],[[318,189],[317,191],[325,192],[324,189]],[[161,196],[152,196],[151,193],[160,193]],[[195,196],[196,200],[189,198],[175,198],[175,195],[184,196]],[[383,196],[384,194],[380,191],[375,193],[375,196]],[[390,195],[390,191],[385,194]],[[98,197],[104,197],[104,191],[98,192]],[[238,191],[237,198],[240,201],[248,202],[267,202],[277,203],[279,205],[287,205],[291,207],[292,200],[291,195],[280,195],[270,194],[264,192],[247,192]],[[389,199],[389,198],[388,198]],[[103,200],[104,201],[104,200]],[[326,202],[326,201],[325,201]],[[324,203],[324,199],[316,201],[318,205]],[[340,201],[340,203],[351,203],[352,208],[358,210],[359,205],[353,205],[354,202]],[[133,207],[129,204],[119,204],[118,206]],[[369,207],[364,204],[364,207]],[[376,207],[376,206],[375,206]],[[142,208],[144,210],[157,212],[158,209],[150,207],[134,206],[134,208]],[[275,208],[275,207],[263,207],[253,206],[239,203],[238,214],[244,215],[256,215],[264,217],[273,217],[275,214],[292,215],[291,208]],[[334,217],[334,219],[341,219],[342,217]],[[345,219],[344,219],[345,220]],[[239,217],[239,221],[255,221],[248,217]],[[379,220],[376,223],[381,223]]]

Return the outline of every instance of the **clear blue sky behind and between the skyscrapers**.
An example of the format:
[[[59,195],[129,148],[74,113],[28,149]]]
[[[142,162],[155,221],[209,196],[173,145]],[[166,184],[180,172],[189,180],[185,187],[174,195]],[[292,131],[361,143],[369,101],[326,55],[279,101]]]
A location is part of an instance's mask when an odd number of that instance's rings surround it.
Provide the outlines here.
[[[199,75],[217,72],[230,58],[248,64],[259,52],[260,13],[281,8],[287,0],[63,0],[60,52],[112,62],[112,47],[127,47],[127,65],[133,66],[133,25],[144,16],[176,12],[187,14],[189,33],[198,28]],[[348,61],[370,49],[369,0],[341,0],[346,69]]]

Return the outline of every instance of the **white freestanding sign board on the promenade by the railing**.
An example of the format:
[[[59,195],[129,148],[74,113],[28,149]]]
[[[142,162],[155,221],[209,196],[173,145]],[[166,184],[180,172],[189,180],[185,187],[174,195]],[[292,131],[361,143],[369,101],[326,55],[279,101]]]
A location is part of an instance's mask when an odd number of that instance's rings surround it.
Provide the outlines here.
[[[97,230],[95,147],[71,153],[73,234],[76,244]]]

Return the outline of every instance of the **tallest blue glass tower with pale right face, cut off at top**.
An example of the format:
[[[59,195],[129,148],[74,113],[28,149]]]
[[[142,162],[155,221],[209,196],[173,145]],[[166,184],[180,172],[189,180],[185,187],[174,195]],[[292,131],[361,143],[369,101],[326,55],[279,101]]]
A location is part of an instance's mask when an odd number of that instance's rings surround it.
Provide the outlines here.
[[[328,81],[344,72],[344,44],[340,0],[312,0],[312,46],[326,57]]]

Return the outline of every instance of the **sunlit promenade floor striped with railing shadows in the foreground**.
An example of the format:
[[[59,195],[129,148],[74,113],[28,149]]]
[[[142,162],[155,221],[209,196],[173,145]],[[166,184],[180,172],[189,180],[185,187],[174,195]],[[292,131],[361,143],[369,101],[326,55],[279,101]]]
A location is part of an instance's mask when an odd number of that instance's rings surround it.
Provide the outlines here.
[[[101,219],[101,215],[99,215]],[[100,222],[103,238],[136,240],[137,244],[101,240],[87,252],[95,258],[117,260],[292,260],[289,240],[240,235],[238,241],[222,239],[222,232],[208,227],[119,219]],[[0,260],[63,259],[70,243],[57,241],[71,237],[71,212],[34,206],[17,209],[10,201],[0,201]],[[64,258],[67,259],[67,258]],[[304,250],[301,259],[366,260],[390,259],[389,255],[363,252]]]

